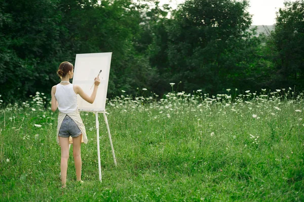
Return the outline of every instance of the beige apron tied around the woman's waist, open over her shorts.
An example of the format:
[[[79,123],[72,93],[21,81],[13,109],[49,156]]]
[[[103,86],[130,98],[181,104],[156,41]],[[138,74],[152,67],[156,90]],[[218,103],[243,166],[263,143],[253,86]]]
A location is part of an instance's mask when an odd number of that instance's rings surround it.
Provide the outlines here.
[[[81,142],[87,144],[88,143],[88,137],[87,137],[87,133],[86,133],[86,128],[85,128],[84,123],[82,122],[82,119],[80,117],[80,113],[79,113],[78,109],[75,110],[74,112],[71,112],[71,113],[68,113],[68,114],[59,112],[59,114],[58,114],[58,125],[57,125],[57,143],[60,145],[60,143],[59,143],[59,130],[60,130],[62,121],[63,121],[63,119],[66,115],[68,115],[77,124],[80,131],[82,132]],[[73,139],[70,136],[69,137],[69,144],[72,144],[72,143],[73,143]]]

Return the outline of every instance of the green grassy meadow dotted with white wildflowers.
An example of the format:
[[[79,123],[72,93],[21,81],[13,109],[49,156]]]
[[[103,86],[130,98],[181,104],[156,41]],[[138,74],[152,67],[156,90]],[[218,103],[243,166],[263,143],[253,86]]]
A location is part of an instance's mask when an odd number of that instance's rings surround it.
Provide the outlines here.
[[[144,89],[107,100],[117,167],[99,114],[102,182],[95,115],[82,112],[84,183],[71,148],[65,189],[50,100],[37,92],[2,106],[0,201],[304,201],[303,93],[231,91],[159,99]]]

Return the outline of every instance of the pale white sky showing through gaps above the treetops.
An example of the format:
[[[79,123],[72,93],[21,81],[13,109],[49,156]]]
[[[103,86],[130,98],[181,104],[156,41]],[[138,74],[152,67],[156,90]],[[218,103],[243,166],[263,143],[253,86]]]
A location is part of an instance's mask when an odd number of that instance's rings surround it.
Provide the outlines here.
[[[173,9],[184,0],[159,0],[160,4],[170,4]],[[276,22],[276,12],[284,7],[285,0],[250,0],[249,13],[252,16],[252,25],[273,25]],[[295,0],[290,0],[294,2]]]

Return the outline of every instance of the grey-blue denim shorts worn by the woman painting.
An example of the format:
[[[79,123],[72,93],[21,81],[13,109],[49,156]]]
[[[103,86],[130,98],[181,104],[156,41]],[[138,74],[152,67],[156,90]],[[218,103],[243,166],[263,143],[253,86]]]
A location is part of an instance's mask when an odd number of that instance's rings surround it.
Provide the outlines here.
[[[79,127],[77,126],[77,124],[69,117],[69,116],[65,116],[60,129],[59,129],[59,137],[78,137],[79,135],[81,135],[82,132],[79,129]]]

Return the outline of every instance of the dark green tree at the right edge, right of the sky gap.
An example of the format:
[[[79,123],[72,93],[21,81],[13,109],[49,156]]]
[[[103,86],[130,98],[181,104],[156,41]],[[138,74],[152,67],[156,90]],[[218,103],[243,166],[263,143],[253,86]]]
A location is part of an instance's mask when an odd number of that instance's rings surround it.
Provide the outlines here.
[[[277,82],[304,87],[304,1],[285,2],[272,32]]]

